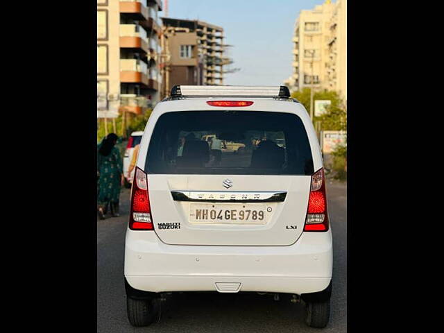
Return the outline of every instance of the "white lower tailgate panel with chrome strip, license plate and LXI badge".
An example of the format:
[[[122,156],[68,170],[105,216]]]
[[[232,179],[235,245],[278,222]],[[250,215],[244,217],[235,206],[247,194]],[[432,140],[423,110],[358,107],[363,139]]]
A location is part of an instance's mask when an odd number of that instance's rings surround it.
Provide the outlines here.
[[[155,232],[172,245],[291,245],[304,228],[310,179],[148,175]]]

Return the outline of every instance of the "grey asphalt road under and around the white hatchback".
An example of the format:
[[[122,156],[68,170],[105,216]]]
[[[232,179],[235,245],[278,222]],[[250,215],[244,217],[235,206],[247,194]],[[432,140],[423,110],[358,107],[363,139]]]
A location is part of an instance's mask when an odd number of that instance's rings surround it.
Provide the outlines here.
[[[160,322],[132,327],[126,316],[123,250],[129,190],[121,194],[121,217],[97,221],[97,332],[347,332],[347,185],[327,185],[334,264],[330,323],[304,323],[303,303],[257,293],[192,293],[175,296]]]

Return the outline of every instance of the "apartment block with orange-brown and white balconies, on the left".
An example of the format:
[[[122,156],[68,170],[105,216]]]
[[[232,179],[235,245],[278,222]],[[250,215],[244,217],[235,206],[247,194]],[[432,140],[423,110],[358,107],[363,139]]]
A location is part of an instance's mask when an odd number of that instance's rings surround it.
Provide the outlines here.
[[[142,114],[159,101],[160,10],[161,0],[97,0],[98,107]]]

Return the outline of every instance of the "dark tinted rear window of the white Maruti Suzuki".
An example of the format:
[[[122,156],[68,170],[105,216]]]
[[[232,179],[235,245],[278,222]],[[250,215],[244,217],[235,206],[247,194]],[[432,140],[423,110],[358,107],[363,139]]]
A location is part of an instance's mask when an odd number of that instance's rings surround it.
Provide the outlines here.
[[[168,112],[157,120],[145,170],[166,174],[311,175],[311,149],[296,114]]]

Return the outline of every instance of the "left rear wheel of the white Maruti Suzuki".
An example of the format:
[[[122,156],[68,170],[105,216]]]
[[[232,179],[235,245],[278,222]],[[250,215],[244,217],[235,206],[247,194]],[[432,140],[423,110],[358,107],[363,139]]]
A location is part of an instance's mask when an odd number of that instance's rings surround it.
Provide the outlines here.
[[[126,298],[128,320],[135,327],[148,326],[160,318],[160,299],[136,300]]]

